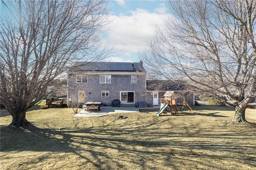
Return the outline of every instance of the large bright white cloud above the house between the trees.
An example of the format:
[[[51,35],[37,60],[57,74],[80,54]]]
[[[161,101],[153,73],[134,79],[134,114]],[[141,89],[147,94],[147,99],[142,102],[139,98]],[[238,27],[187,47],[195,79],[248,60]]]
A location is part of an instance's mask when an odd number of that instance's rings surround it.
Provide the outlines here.
[[[162,27],[164,20],[168,18],[167,14],[150,13],[144,9],[136,9],[129,13],[129,16],[110,16],[113,22],[108,34],[108,41],[114,45],[114,49],[127,56],[146,47],[146,42],[154,35],[156,24]]]

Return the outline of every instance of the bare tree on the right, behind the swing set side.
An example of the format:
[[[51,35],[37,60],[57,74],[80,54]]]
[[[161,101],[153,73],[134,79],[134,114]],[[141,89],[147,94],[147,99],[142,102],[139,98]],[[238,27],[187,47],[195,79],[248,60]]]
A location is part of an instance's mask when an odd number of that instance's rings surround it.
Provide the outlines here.
[[[235,107],[234,121],[256,96],[256,1],[169,1],[174,16],[140,53],[151,75]]]

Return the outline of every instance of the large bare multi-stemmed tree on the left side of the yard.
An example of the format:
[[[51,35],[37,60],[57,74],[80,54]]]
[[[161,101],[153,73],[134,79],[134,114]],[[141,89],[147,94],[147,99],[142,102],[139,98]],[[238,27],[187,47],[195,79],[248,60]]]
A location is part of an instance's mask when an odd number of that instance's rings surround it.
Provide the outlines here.
[[[0,99],[11,125],[27,125],[26,111],[47,85],[75,61],[108,55],[105,0],[3,1],[0,19]]]

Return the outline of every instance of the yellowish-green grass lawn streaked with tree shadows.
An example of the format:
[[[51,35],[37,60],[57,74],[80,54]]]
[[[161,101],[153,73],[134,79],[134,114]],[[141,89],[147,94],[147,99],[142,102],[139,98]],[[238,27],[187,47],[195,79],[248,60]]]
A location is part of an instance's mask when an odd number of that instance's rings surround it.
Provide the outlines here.
[[[255,109],[246,109],[254,125],[232,123],[230,107],[192,109],[75,118],[70,108],[35,106],[26,114],[34,125],[28,128],[9,127],[11,116],[1,111],[0,169],[256,169]]]

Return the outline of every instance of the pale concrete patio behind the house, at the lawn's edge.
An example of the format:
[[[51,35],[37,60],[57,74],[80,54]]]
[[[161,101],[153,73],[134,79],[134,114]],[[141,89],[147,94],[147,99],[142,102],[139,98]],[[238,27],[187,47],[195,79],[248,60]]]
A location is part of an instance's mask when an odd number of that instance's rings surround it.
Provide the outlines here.
[[[128,107],[128,106],[123,106],[123,107],[111,107],[111,106],[104,106],[103,111],[94,111],[94,112],[88,112],[88,111],[80,111],[73,117],[102,117],[105,115],[110,115],[114,113],[139,113],[139,109],[141,112],[148,112],[148,111],[155,111],[160,109],[160,105],[154,106],[154,107],[143,107],[143,108],[138,108],[138,107]]]

